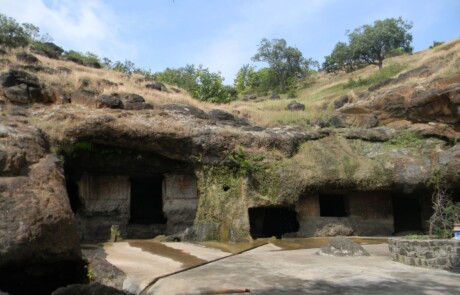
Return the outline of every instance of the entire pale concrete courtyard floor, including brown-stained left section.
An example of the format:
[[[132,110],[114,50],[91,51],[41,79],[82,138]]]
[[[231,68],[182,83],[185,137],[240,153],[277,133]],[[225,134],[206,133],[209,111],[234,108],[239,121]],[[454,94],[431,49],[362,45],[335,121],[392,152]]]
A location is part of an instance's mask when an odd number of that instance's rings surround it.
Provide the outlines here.
[[[134,293],[460,294],[460,274],[393,262],[387,244],[363,245],[370,256],[331,257],[276,243],[237,255],[189,243],[139,243],[104,246]]]

